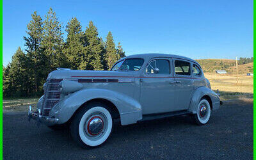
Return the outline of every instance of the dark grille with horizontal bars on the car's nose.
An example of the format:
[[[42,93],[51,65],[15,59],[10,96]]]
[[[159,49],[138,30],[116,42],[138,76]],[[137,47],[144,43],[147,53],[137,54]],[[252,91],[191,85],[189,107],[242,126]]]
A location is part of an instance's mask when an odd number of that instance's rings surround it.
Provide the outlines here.
[[[58,85],[62,79],[50,79],[45,84],[43,116],[49,116],[52,107],[60,100],[60,91]]]

